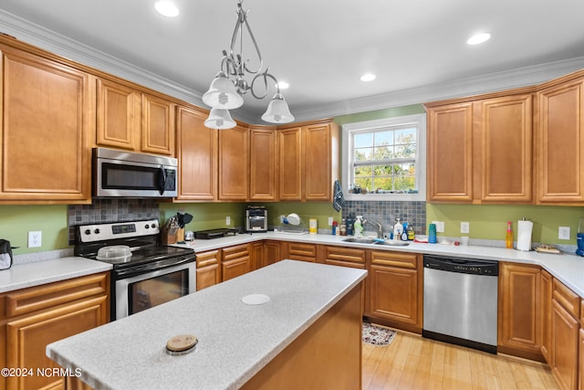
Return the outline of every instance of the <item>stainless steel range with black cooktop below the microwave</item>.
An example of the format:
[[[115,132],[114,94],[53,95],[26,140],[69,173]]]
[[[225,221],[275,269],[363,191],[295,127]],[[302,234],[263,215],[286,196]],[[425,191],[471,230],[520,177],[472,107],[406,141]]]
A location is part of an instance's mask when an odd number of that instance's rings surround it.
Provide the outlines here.
[[[157,219],[76,227],[75,255],[113,265],[112,321],[196,290],[194,249],[163,246],[160,232]],[[104,258],[117,250],[127,255]]]

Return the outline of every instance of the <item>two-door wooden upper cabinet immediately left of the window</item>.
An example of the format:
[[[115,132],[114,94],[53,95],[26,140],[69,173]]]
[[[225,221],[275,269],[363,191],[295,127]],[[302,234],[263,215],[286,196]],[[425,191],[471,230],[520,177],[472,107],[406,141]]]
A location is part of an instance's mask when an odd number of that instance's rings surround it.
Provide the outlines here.
[[[331,201],[339,177],[339,127],[330,120],[295,124],[278,133],[280,200]]]

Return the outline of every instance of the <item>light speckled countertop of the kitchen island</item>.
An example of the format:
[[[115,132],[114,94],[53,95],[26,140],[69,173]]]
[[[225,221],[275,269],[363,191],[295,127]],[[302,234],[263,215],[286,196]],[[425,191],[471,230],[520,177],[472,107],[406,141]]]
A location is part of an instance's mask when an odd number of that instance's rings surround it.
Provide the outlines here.
[[[286,348],[367,275],[283,260],[183,298],[47,345],[47,356],[99,389],[234,389]],[[264,304],[242,301],[266,294]],[[196,349],[165,352],[175,335]]]

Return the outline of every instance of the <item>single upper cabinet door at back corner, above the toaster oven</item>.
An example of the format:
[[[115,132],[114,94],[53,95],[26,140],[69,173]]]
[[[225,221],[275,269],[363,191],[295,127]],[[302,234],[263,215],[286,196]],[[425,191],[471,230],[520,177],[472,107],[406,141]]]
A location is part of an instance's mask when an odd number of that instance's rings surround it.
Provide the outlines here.
[[[249,135],[249,200],[275,201],[276,128],[252,128]]]

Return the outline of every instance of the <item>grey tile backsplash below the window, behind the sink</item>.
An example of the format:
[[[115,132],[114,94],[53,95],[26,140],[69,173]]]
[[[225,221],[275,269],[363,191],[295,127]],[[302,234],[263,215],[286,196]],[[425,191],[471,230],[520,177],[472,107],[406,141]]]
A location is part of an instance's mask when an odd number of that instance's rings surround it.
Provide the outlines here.
[[[426,202],[346,201],[342,217],[349,214],[380,222],[386,233],[393,231],[395,218],[399,217],[401,222],[411,224],[416,234],[426,234]]]

